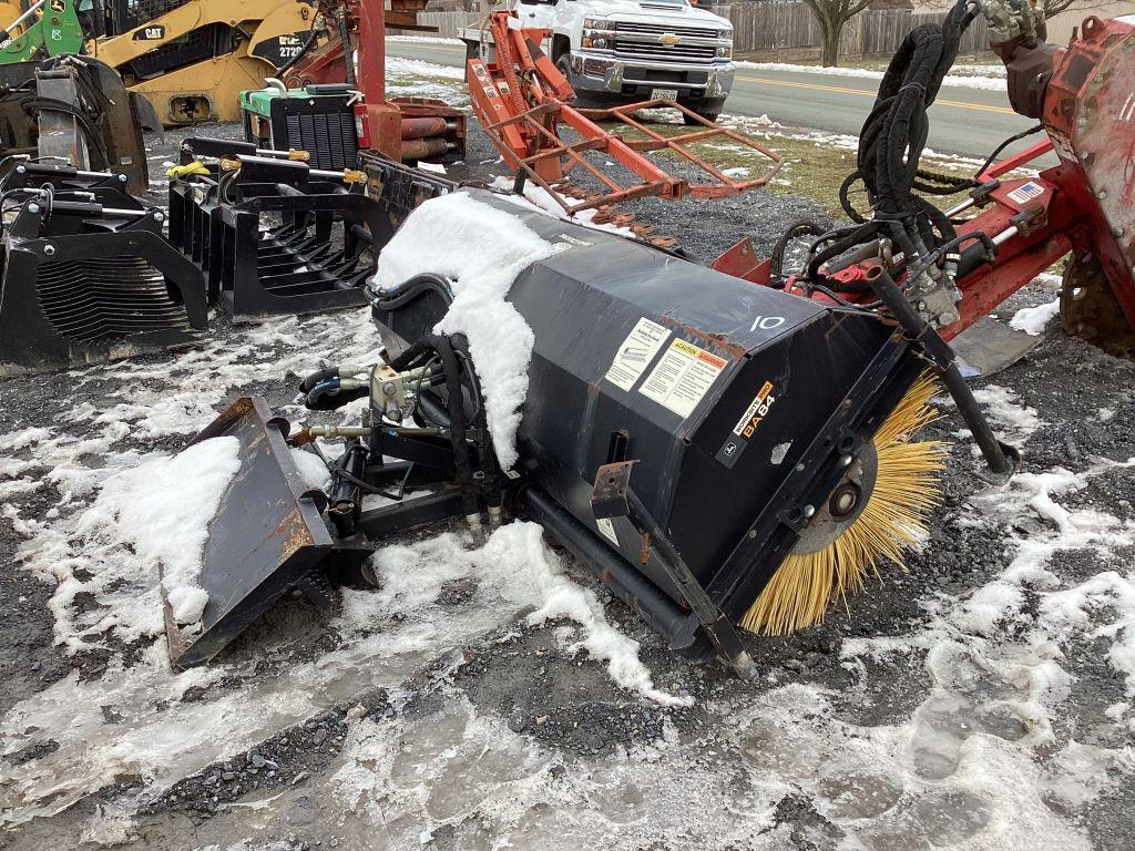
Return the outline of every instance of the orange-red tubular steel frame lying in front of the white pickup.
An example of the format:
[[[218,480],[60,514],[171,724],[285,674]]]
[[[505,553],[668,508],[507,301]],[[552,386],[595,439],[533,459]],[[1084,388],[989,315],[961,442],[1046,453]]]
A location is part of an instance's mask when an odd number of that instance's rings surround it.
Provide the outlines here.
[[[575,93],[568,79],[540,50],[540,42],[550,37],[547,30],[526,30],[510,11],[489,15],[487,32],[491,35],[496,57],[490,61],[470,59],[465,69],[473,112],[488,132],[510,168],[522,171],[547,191],[569,213],[591,208],[657,195],[666,199],[722,197],[764,186],[780,170],[783,160],[754,140],[718,126],[673,101],[653,100],[604,110],[582,110],[569,106]],[[633,118],[637,110],[678,109],[701,125],[700,129],[665,136]],[[596,121],[614,120],[645,138],[624,140],[602,128]],[[565,142],[561,125],[578,141]],[[692,153],[687,145],[725,138],[746,145],[771,160],[768,170],[751,180],[733,180],[712,163]],[[706,172],[713,183],[690,184],[673,177],[645,152],[665,151],[686,159]],[[621,184],[611,174],[588,161],[588,153],[602,152],[605,159],[639,178],[638,183]],[[580,168],[600,183],[605,193],[581,201],[569,201],[557,188],[572,169]]]

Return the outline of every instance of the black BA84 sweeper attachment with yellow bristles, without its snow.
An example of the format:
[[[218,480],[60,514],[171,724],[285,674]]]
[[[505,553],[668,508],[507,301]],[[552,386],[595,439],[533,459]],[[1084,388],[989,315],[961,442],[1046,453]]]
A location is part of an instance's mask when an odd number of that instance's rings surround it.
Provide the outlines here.
[[[510,475],[497,464],[486,388],[471,369],[477,351],[461,335],[432,332],[453,298],[451,284],[420,275],[372,285],[389,365],[325,369],[300,388],[317,410],[370,398],[362,426],[309,427],[291,436],[296,446],[346,440],[329,464],[323,528],[331,538],[320,539],[319,554],[339,556],[337,564],[358,561],[360,548],[444,516],[463,517],[478,533],[482,513],[489,526],[529,516],[675,650],[717,651],[743,669],[735,625],[764,589],[775,588],[771,580],[785,559],[818,573],[825,556],[815,554],[855,546],[856,556],[890,555],[898,546],[891,533],[900,540],[916,533],[928,496],[910,495],[898,516],[889,509],[906,496],[897,472],[902,458],[939,464],[933,445],[906,443],[928,416],[930,389],[919,380],[925,362],[916,347],[880,314],[754,286],[486,191],[468,197],[486,226],[518,221],[558,246],[521,272],[510,293],[535,336],[520,460]],[[245,625],[228,615],[227,607],[241,603],[229,593],[233,574],[261,576],[277,562],[291,571],[280,550],[292,526],[281,517],[311,513],[295,498],[292,455],[278,447],[266,456],[258,447],[271,429],[251,427],[242,412],[264,418],[255,402],[243,401],[220,420],[236,421],[225,433],[236,433],[247,452],[205,548],[201,582],[210,604],[196,634],[209,635],[209,652]],[[283,444],[287,429],[279,421],[275,428],[280,436],[272,440]],[[275,506],[263,519],[237,495],[251,478],[269,478],[262,465],[280,482],[255,497]],[[432,491],[413,497],[423,482]],[[891,488],[883,507],[875,496],[882,485]],[[371,492],[402,498],[363,512]],[[220,558],[234,536],[252,541],[246,554]],[[886,536],[885,553],[873,536]],[[854,544],[836,544],[844,540]],[[304,533],[302,551],[314,546]],[[303,582],[329,575],[314,559],[304,563],[312,574]],[[841,561],[840,568],[834,581],[810,578],[801,610],[781,616],[815,617],[813,609],[854,590],[871,565],[851,570]],[[253,585],[259,610],[268,592]],[[285,590],[276,583],[270,596]],[[193,632],[174,627],[176,665],[208,655],[194,650]]]

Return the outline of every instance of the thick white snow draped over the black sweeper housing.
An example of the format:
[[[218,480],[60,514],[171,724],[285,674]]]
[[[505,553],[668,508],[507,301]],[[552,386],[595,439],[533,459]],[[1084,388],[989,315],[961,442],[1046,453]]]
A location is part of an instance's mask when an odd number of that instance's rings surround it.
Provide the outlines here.
[[[471,245],[478,250],[470,251]],[[410,213],[382,248],[373,279],[384,287],[426,272],[449,278],[453,304],[434,330],[469,339],[493,446],[505,470],[516,463],[516,429],[535,342],[532,329],[505,297],[518,275],[553,252],[520,219],[455,192]]]

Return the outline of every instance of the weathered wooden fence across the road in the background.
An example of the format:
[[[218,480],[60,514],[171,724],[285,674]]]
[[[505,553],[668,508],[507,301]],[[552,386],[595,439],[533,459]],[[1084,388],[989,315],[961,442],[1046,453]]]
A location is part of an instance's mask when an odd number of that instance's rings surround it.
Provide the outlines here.
[[[758,58],[799,58],[818,53],[823,43],[819,24],[801,2],[740,2],[712,7],[713,11],[733,22],[733,50]],[[454,39],[462,27],[476,24],[484,17],[479,11],[421,11],[418,19],[436,26],[435,35]],[[914,14],[909,9],[871,9],[856,15],[843,27],[840,37],[840,57],[856,59],[888,56],[908,32],[919,24],[941,22],[945,14]],[[961,40],[961,52],[974,53],[985,49],[985,22],[974,22]]]

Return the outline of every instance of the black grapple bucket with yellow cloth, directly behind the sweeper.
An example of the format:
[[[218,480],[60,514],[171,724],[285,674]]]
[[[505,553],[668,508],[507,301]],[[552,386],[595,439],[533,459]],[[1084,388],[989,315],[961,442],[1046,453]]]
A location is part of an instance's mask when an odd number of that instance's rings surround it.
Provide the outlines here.
[[[303,151],[195,137],[171,171],[169,237],[235,319],[358,307],[409,209],[454,184],[362,152],[312,168]]]

